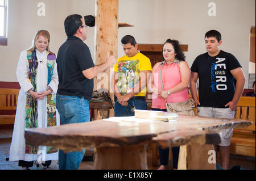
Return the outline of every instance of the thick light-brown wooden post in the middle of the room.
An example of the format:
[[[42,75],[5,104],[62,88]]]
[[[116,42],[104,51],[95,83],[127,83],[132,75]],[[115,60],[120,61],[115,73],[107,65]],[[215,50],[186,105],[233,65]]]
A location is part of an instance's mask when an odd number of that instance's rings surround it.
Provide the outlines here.
[[[106,53],[117,58],[117,39],[118,39],[118,0],[96,0],[96,65],[105,62]],[[110,92],[110,70],[106,70],[108,79],[94,78],[94,90],[106,88]],[[99,75],[99,78],[101,75]],[[101,84],[101,86],[100,86]],[[100,87],[99,87],[100,86]],[[114,102],[114,94],[110,93]],[[109,116],[114,116],[111,109]]]

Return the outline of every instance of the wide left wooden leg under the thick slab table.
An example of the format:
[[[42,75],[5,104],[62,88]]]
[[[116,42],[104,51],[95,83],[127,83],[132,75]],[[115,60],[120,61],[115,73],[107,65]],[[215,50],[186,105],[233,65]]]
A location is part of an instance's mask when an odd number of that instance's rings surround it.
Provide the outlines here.
[[[146,145],[106,146],[96,148],[94,169],[146,170]]]

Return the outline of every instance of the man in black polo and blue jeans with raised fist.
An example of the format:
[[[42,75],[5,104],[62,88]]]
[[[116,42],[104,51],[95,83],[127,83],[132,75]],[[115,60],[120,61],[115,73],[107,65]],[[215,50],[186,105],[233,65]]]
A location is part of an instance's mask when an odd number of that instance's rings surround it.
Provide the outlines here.
[[[59,86],[56,108],[60,113],[60,124],[90,121],[89,100],[93,91],[93,78],[117,63],[113,56],[106,62],[94,65],[86,40],[86,25],[81,15],[69,15],[64,22],[68,39],[57,54]],[[59,150],[59,169],[77,170],[85,150],[65,154]]]

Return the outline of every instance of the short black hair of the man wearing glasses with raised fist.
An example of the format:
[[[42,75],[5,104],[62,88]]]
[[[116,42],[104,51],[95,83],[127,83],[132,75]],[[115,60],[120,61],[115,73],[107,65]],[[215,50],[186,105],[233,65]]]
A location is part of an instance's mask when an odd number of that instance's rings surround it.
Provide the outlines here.
[[[82,16],[78,14],[69,15],[64,22],[65,32],[67,36],[73,36],[80,26],[82,26]]]

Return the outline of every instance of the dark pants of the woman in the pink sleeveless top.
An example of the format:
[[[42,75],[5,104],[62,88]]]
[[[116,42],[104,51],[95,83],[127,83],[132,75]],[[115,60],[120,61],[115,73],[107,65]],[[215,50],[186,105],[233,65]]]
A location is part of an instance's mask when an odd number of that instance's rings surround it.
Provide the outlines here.
[[[157,108],[152,108],[152,111],[164,111],[167,112],[166,109],[164,110],[160,110]],[[168,158],[169,158],[169,150],[170,148],[166,148],[166,149],[160,149],[160,147],[158,148],[159,151],[159,158],[160,158],[160,165],[167,165],[168,164]],[[172,167],[174,167],[174,169],[177,169],[177,163],[179,160],[179,153],[180,153],[180,147],[172,147]]]

